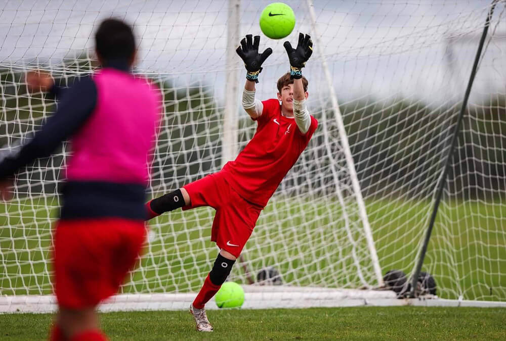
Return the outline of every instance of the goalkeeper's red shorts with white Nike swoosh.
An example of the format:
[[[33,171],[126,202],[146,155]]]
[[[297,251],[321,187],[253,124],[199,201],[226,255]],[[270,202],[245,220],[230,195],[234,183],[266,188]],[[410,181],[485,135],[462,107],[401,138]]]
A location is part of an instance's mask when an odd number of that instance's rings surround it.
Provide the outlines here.
[[[263,208],[240,197],[225,180],[224,172],[207,175],[183,188],[191,201],[191,205],[183,210],[201,206],[214,208],[216,215],[211,240],[220,249],[239,257]]]

